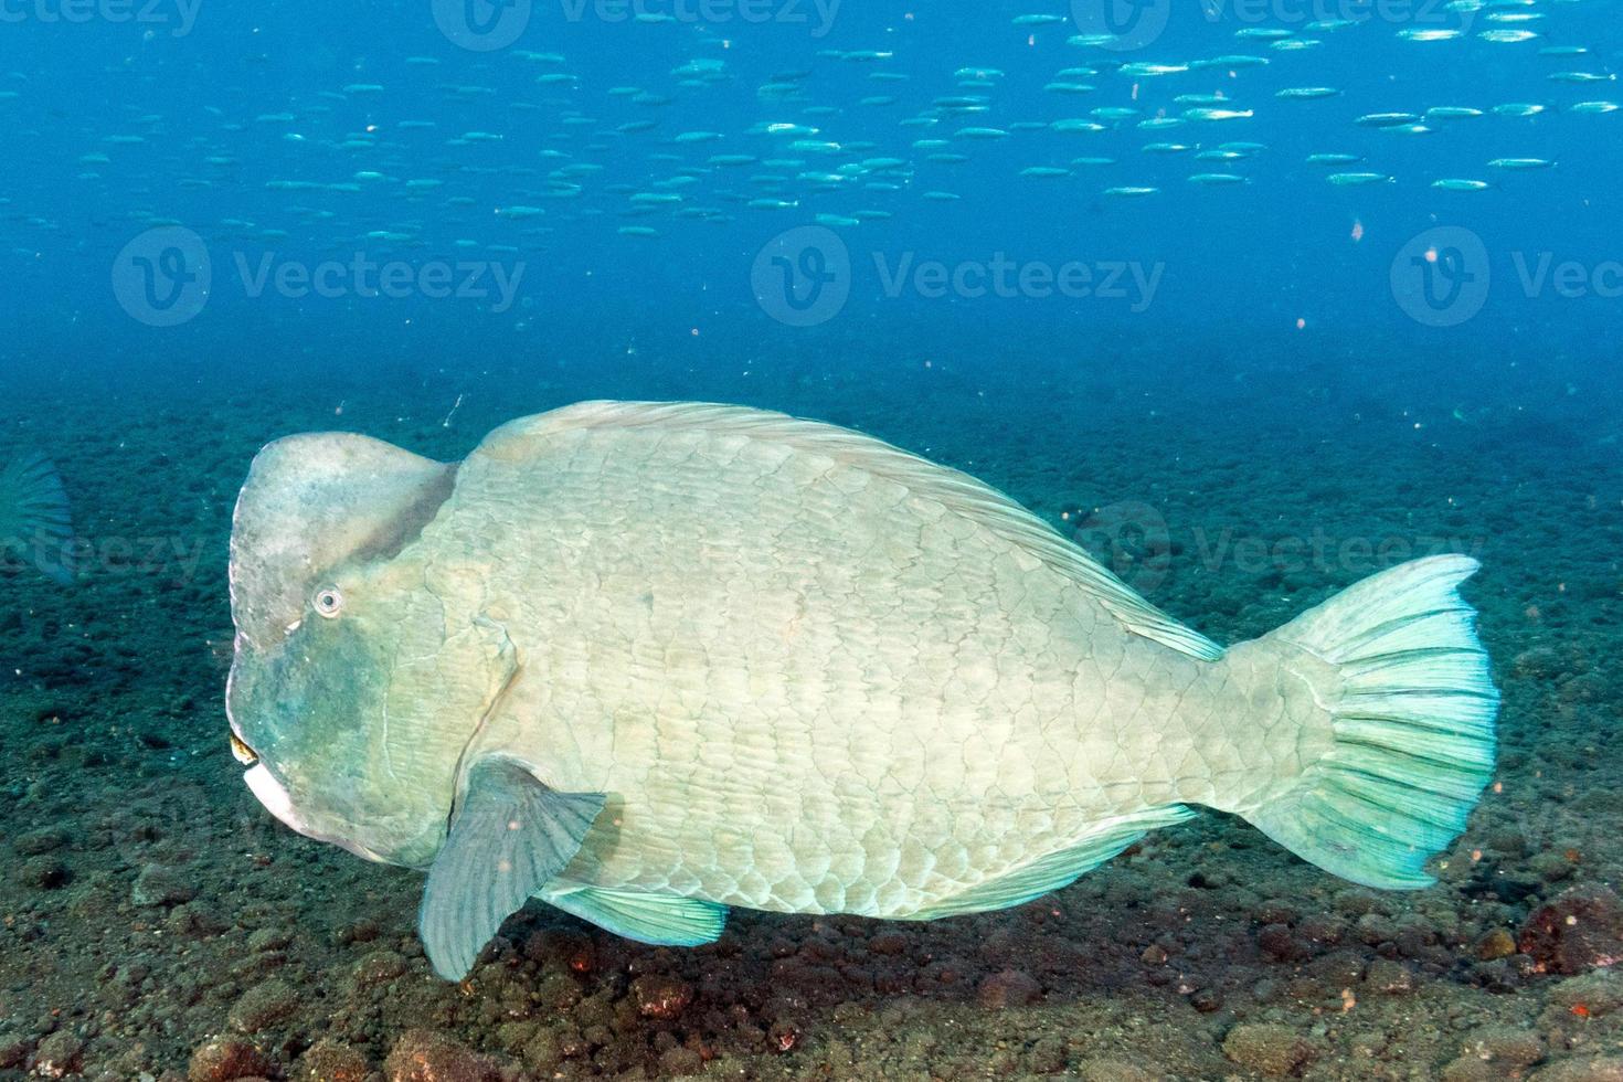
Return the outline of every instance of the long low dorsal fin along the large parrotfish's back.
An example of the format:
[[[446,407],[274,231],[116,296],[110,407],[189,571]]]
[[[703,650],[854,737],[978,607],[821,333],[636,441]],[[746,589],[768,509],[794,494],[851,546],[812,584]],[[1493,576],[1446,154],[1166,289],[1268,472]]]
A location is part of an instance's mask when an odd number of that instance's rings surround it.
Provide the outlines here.
[[[502,456],[511,440],[549,436],[571,428],[704,430],[769,440],[815,451],[904,485],[992,534],[1019,545],[1052,571],[1081,587],[1123,628],[1165,647],[1216,660],[1222,647],[1160,612],[1040,517],[969,474],[938,466],[873,436],[800,420],[787,414],[709,402],[578,402],[550,414],[510,422],[492,432],[477,453]]]

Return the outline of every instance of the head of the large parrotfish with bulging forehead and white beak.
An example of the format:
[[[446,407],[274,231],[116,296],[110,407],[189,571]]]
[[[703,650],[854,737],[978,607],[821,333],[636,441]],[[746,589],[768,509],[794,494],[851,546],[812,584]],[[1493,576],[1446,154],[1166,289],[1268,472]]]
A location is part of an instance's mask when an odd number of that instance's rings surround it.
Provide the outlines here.
[[[422,535],[454,475],[362,436],[294,436],[255,459],[232,526],[245,782],[300,834],[409,866],[443,842],[461,748],[513,663],[500,628],[430,589]]]

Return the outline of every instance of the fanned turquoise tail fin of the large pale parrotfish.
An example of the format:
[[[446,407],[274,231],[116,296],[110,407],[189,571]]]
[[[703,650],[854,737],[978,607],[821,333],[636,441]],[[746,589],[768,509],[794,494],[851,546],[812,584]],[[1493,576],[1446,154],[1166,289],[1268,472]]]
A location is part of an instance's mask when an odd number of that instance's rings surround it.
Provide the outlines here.
[[[1493,774],[1500,694],[1457,592],[1477,569],[1431,556],[1371,576],[1269,639],[1341,667],[1334,745],[1246,818],[1303,860],[1371,887],[1414,889]]]

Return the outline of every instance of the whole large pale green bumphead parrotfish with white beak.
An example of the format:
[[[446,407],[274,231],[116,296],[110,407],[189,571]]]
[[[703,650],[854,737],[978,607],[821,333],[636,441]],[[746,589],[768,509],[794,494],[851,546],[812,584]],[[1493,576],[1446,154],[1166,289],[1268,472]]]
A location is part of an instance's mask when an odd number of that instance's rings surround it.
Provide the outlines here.
[[[265,448],[227,709],[271,813],[427,869],[446,978],[531,897],[654,944],[732,905],[928,920],[1063,887],[1193,805],[1420,887],[1493,769],[1475,568],[1406,563],[1224,649],[878,440],[583,402],[454,464]]]

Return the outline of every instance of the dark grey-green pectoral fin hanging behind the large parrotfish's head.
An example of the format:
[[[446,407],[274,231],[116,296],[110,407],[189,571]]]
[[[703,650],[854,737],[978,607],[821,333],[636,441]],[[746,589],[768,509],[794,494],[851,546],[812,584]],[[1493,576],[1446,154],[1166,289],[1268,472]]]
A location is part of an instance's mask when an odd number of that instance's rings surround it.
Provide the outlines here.
[[[602,793],[560,793],[510,759],[474,764],[417,913],[433,970],[466,977],[502,921],[575,858],[602,808]]]

